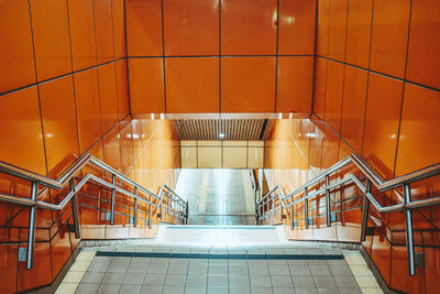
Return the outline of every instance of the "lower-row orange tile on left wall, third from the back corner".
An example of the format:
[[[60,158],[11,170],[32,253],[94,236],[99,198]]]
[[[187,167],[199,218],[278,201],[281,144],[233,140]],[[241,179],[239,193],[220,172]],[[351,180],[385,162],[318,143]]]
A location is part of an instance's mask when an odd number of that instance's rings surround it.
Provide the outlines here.
[[[101,138],[98,70],[92,68],[74,75],[78,118],[79,148],[86,152]]]

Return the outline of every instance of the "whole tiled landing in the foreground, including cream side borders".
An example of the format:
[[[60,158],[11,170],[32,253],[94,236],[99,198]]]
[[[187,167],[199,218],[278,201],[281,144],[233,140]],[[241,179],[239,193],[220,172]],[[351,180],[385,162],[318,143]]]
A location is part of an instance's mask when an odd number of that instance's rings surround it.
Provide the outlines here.
[[[355,251],[297,247],[195,249],[106,248],[118,252],[275,254],[276,259],[97,257],[84,249],[57,293],[382,293]],[[86,251],[87,250],[87,251]],[[341,260],[285,260],[283,254],[340,254]],[[222,255],[224,257],[224,255]]]

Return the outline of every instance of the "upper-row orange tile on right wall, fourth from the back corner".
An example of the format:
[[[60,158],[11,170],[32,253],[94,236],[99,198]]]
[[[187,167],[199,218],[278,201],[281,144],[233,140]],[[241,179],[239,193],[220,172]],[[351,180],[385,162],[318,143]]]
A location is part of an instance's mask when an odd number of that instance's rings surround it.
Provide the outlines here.
[[[370,68],[403,78],[410,0],[375,1]]]

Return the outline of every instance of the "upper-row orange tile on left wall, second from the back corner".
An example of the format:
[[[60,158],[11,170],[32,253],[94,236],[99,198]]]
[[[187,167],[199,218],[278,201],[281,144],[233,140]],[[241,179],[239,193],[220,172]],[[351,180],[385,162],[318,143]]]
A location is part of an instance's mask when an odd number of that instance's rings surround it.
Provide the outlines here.
[[[95,0],[95,34],[98,64],[114,59],[111,0]]]

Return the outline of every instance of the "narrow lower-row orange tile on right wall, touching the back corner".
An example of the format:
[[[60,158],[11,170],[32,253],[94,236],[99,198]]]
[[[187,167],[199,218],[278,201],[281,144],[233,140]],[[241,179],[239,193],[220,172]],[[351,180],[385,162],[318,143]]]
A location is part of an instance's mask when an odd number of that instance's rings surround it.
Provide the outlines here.
[[[315,92],[314,92],[314,113],[323,119],[326,107],[327,67],[328,61],[316,57],[315,59]]]

